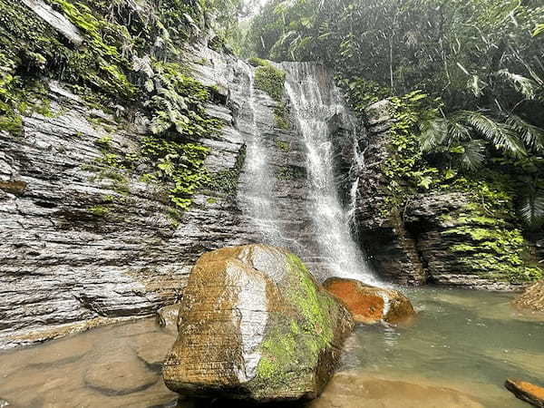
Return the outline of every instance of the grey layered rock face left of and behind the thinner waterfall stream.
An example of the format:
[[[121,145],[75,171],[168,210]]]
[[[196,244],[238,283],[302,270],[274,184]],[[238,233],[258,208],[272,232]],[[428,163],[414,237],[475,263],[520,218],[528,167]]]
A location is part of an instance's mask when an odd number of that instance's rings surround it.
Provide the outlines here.
[[[82,33],[61,13],[43,2],[24,5],[80,44]],[[206,111],[222,123],[219,135],[198,140],[209,151],[203,166],[211,183],[187,211],[172,206],[172,186],[145,180],[151,164],[112,165],[140,154],[151,134],[146,112],[116,106],[131,112],[121,119],[53,81],[48,112],[24,117],[22,136],[0,131],[0,347],[149,316],[179,301],[202,253],[269,241],[270,219],[258,217],[256,203],[275,209],[271,228],[282,238],[275,243],[319,270],[306,146],[288,123],[289,102],[287,125],[279,126],[278,102],[256,88],[254,68],[206,42],[184,47],[188,72],[213,93]],[[333,86],[330,76],[322,83]],[[263,158],[267,177],[255,167]]]

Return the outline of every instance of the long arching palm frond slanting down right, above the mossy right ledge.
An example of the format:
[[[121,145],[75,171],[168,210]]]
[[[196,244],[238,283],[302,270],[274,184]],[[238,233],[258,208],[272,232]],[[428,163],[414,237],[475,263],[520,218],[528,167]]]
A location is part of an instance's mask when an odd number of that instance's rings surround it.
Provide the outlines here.
[[[527,155],[527,151],[516,132],[505,123],[493,121],[481,112],[462,112],[467,123],[488,141],[492,141],[497,149],[507,151],[514,157]]]

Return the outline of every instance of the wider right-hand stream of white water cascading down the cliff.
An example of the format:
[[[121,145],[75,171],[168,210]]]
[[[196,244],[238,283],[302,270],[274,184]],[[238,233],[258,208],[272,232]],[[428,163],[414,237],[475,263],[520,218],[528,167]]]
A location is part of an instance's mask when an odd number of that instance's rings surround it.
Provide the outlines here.
[[[376,284],[350,234],[350,211],[343,208],[335,186],[334,141],[327,121],[335,115],[348,121],[339,92],[330,81],[322,86],[320,78],[325,73],[316,64],[284,63],[283,68],[287,71],[287,94],[306,144],[308,211],[325,269],[330,276]]]

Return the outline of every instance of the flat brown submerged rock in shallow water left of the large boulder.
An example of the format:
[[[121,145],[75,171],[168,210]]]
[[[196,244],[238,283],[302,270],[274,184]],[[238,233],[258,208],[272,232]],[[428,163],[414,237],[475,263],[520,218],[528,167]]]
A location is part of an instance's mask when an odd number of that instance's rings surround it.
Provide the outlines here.
[[[101,355],[85,373],[85,384],[106,395],[125,395],[151,387],[159,378],[131,349]]]

